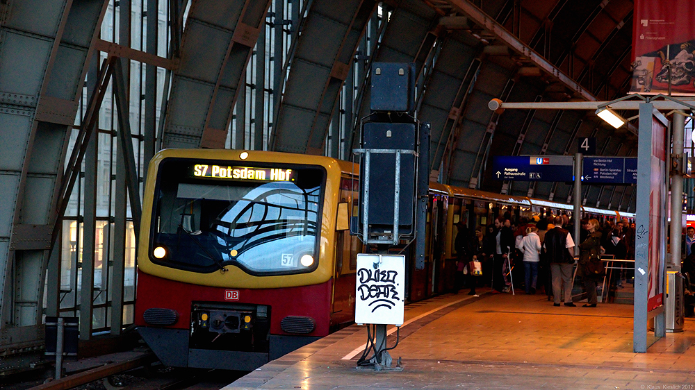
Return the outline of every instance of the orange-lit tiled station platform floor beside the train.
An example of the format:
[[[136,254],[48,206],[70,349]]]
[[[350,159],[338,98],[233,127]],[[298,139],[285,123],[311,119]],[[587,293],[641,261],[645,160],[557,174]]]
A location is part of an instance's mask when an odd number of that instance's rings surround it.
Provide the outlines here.
[[[632,305],[554,307],[543,294],[467,292],[406,307],[390,351],[401,371],[358,370],[366,326],[352,325],[223,390],[695,388],[693,319],[684,332],[651,332],[648,352],[633,353]]]

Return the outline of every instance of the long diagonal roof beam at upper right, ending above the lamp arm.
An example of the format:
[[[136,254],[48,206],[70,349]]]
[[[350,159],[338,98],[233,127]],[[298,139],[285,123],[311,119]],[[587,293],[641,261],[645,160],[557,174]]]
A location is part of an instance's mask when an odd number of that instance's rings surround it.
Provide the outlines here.
[[[575,94],[580,96],[582,99],[586,101],[597,100],[594,95],[592,95],[589,91],[584,90],[584,87],[582,87],[579,83],[573,80],[573,78],[564,74],[563,71],[555,67],[555,65],[543,58],[541,55],[539,55],[539,53],[536,53],[533,49],[530,48],[530,46],[527,46],[526,44],[518,40],[516,37],[514,37],[514,35],[512,35],[512,33],[509,33],[509,31],[507,31],[501,24],[495,22],[495,20],[486,15],[485,12],[482,12],[480,8],[474,6],[473,3],[467,0],[448,1],[456,8],[459,8],[461,12],[464,12],[468,16],[468,19],[471,20],[471,22],[475,22],[476,24],[479,24],[486,30],[490,31],[493,35],[495,35],[498,38],[498,40],[507,44],[507,46],[514,49],[514,51],[521,53],[522,56],[527,57],[530,60],[530,62],[536,65],[536,67],[543,69],[543,71],[546,71],[546,73],[550,74],[550,76],[553,76],[554,78],[559,80],[560,83],[566,85],[570,90],[574,91]]]

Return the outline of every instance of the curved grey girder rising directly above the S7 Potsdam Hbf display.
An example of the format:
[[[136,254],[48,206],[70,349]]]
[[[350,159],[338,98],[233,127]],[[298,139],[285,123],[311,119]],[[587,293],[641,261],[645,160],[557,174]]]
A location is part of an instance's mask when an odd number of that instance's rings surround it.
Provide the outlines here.
[[[270,0],[193,0],[167,105],[164,148],[224,148]]]

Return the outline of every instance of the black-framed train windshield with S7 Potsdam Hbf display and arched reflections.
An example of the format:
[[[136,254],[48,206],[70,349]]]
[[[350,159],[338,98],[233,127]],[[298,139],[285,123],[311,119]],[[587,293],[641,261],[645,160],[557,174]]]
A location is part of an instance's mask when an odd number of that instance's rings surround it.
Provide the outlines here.
[[[152,261],[200,272],[227,264],[254,275],[312,271],[324,182],[320,167],[167,159],[158,174]]]

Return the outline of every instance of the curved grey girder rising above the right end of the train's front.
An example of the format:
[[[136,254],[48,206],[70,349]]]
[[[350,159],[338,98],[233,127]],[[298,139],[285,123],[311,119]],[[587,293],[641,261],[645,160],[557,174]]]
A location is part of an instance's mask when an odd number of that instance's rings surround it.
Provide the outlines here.
[[[376,4],[374,0],[311,3],[273,121],[273,150],[323,154],[336,98]]]

